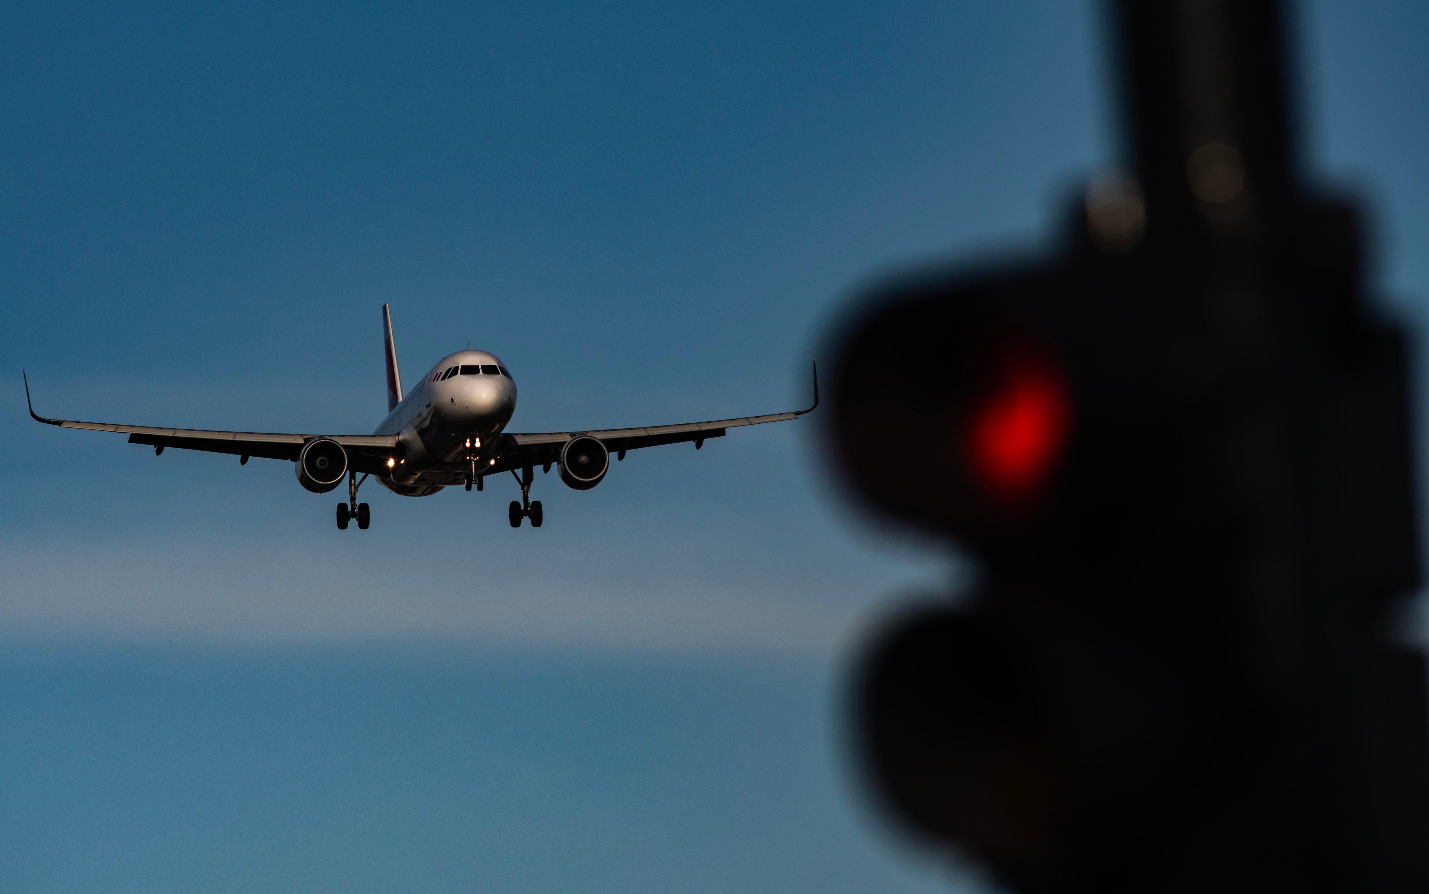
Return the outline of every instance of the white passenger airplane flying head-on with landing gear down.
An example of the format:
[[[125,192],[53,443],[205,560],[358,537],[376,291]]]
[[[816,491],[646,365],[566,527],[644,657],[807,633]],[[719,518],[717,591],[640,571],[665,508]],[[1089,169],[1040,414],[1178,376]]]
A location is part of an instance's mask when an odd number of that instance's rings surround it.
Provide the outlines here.
[[[530,518],[543,521],[540,500],[530,498],[533,470],[557,467],[560,480],[574,490],[590,490],[610,470],[610,454],[624,460],[627,450],[725,437],[727,428],[762,426],[799,418],[819,406],[819,367],[813,370],[813,406],[792,413],[722,418],[647,428],[604,428],[599,431],[547,431],[514,434],[506,424],[516,411],[516,380],[504,363],[489,351],[464,350],[447,354],[427,370],[422,383],[403,394],[397,370],[397,348],[392,337],[392,311],[382,306],[383,353],[387,363],[387,417],[373,434],[277,434],[263,431],[207,431],[196,428],[153,428],[110,423],[79,423],[36,414],[30,403],[30,377],[24,377],[24,401],[36,421],[61,428],[116,431],[130,444],[146,444],[154,456],[166,447],[289,460],[297,483],[314,494],[326,494],[347,478],[347,503],[337,504],[337,527],[352,520],[366,530],[372,510],[357,503],[357,488],[376,476],[383,487],[403,497],[429,497],[443,487],[464,484],[483,488],[486,476],[512,473],[522,488],[507,516],[513,528]],[[520,474],[516,474],[520,470]],[[362,473],[362,480],[357,480]]]

